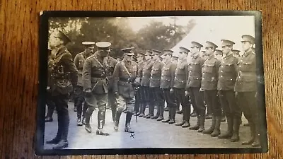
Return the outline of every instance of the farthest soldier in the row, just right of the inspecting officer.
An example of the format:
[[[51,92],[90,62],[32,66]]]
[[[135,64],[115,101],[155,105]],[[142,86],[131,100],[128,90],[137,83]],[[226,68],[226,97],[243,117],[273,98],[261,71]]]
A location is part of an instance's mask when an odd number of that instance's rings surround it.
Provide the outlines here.
[[[144,52],[137,52],[137,77],[139,77],[139,83],[141,83],[142,77],[142,69],[144,68]],[[136,102],[134,103],[134,114],[135,116],[139,116],[142,112],[142,95],[144,90],[142,90],[141,86],[137,90],[136,94]]]

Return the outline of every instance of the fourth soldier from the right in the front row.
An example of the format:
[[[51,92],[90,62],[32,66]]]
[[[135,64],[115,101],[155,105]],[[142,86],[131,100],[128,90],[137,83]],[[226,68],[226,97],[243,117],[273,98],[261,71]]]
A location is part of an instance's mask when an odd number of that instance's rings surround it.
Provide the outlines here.
[[[203,47],[199,42],[192,42],[191,56],[192,61],[188,68],[188,79],[185,95],[190,95],[192,107],[197,114],[197,124],[190,127],[191,130],[197,130],[198,132],[204,131],[204,118],[205,118],[205,106],[203,100],[203,93],[200,92],[200,86],[202,83],[202,65],[204,59],[200,57],[200,49]]]

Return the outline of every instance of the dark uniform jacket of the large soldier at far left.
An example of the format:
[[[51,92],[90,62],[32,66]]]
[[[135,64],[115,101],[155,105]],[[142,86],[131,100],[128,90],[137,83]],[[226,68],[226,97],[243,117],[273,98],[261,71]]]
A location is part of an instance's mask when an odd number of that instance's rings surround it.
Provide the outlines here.
[[[52,95],[70,93],[72,86],[78,81],[78,71],[74,65],[73,58],[66,47],[61,47],[52,59]]]

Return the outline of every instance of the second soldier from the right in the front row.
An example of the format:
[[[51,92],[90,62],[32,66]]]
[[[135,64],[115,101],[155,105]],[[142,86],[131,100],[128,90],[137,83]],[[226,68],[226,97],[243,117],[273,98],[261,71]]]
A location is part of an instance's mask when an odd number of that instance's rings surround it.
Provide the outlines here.
[[[241,122],[241,110],[236,103],[234,93],[238,59],[233,57],[232,52],[235,42],[231,40],[221,40],[221,42],[225,57],[221,60],[221,66],[219,68],[217,90],[221,107],[227,119],[228,129],[226,133],[220,134],[218,138],[231,139],[231,141],[235,142],[239,141],[238,131]]]

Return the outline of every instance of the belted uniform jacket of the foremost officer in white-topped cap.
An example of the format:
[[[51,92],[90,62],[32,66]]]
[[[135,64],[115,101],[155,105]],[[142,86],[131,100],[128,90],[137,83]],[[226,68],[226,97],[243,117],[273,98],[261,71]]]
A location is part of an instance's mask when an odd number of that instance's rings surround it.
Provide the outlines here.
[[[83,64],[83,89],[91,89],[96,94],[108,93],[107,68],[97,52]]]

